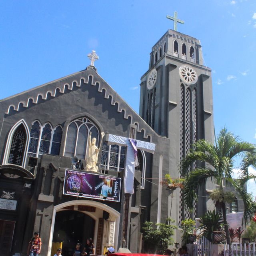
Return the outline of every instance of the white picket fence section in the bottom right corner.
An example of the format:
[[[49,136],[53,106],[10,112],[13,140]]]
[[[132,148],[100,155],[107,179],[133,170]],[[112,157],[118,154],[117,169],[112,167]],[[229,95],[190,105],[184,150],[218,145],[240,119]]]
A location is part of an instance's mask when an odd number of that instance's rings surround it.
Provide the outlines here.
[[[231,244],[231,249],[224,244],[224,256],[256,256],[255,243]]]

